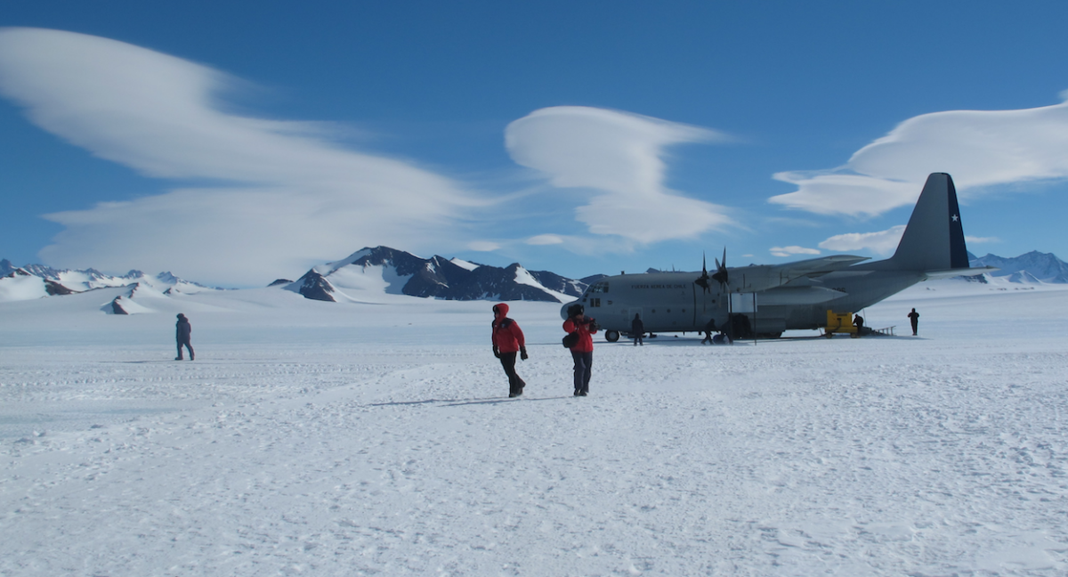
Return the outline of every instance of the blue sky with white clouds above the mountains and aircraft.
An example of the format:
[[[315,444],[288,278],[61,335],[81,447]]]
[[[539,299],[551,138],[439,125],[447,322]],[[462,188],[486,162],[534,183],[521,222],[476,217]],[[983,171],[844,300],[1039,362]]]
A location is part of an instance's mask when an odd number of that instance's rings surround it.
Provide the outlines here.
[[[160,4],[160,5],[156,5]],[[389,245],[582,277],[1068,255],[1068,4],[18,2],[0,258],[229,286]]]

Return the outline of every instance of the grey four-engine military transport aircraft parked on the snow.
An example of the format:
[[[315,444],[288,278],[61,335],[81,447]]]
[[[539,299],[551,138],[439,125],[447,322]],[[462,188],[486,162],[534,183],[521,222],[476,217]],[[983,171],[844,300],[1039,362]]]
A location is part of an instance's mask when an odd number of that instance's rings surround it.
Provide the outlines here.
[[[828,311],[855,312],[913,284],[933,278],[979,275],[969,268],[964,229],[953,178],[927,177],[920,200],[893,256],[862,263],[865,256],[836,254],[781,265],[726,266],[716,272],[647,272],[606,277],[576,302],[597,319],[610,342],[630,332],[640,314],[648,332],[702,331],[713,322],[735,337],[778,338],[784,330],[818,329]]]

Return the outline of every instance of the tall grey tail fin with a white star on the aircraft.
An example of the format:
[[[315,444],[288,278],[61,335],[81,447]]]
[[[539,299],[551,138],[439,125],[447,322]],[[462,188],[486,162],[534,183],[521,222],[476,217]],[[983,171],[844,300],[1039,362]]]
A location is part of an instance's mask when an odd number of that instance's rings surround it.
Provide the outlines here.
[[[957,189],[948,174],[934,172],[927,177],[890,262],[894,268],[908,270],[968,268],[968,247],[964,246]]]

